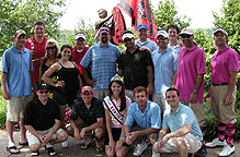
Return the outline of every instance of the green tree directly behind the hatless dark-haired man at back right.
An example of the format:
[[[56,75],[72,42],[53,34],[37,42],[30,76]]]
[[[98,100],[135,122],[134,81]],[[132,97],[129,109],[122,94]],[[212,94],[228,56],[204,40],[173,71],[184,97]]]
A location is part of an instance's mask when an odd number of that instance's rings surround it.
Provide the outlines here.
[[[179,15],[173,0],[159,1],[152,14],[158,29],[165,29],[169,24],[176,24],[180,29],[190,26],[191,19]]]

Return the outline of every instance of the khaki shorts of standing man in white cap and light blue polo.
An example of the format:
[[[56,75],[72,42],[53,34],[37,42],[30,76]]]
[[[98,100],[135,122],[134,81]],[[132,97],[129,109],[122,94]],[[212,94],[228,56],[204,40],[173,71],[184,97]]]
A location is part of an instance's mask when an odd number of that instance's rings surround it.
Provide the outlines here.
[[[152,95],[152,101],[157,102],[161,109],[161,112],[164,112],[164,110],[170,107],[165,100],[165,94],[157,94],[153,93]]]

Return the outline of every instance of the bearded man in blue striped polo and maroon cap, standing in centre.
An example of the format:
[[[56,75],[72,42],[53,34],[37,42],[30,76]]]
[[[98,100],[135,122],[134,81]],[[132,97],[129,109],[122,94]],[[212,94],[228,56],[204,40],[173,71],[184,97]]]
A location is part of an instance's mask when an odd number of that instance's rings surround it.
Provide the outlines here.
[[[121,55],[118,47],[110,40],[110,28],[100,28],[100,43],[90,47],[81,61],[83,74],[89,85],[93,86],[93,94],[100,100],[108,95],[108,83],[116,73],[116,60]],[[92,80],[88,77],[87,68],[92,64]]]

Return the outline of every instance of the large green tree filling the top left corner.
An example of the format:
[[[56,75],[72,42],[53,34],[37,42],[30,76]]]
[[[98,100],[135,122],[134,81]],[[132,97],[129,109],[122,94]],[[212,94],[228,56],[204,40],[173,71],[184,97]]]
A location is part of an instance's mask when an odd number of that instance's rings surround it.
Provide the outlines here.
[[[27,38],[31,37],[36,21],[46,24],[47,37],[59,37],[57,20],[65,13],[61,9],[66,7],[65,2],[66,0],[0,0],[0,55],[13,44],[16,29],[24,29]]]

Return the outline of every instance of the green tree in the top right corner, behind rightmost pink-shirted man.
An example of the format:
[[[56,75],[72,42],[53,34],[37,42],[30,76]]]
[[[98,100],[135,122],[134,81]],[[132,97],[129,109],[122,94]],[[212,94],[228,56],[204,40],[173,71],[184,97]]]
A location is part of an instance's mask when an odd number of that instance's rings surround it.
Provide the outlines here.
[[[240,50],[240,0],[222,0],[220,14],[213,12],[215,27],[225,27],[228,31],[228,44],[239,52]]]

